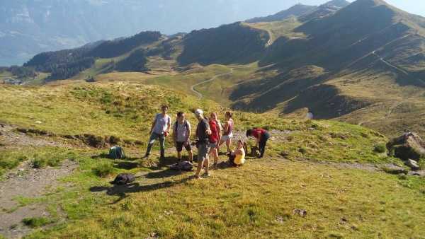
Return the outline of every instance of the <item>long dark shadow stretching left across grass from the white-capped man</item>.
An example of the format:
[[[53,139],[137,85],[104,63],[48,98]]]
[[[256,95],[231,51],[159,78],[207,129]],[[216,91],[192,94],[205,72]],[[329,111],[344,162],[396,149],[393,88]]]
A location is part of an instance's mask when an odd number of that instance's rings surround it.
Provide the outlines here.
[[[113,185],[113,187],[91,187],[91,192],[103,192],[106,191],[106,194],[110,196],[119,196],[117,200],[112,202],[112,204],[116,204],[121,200],[128,197],[128,194],[135,192],[150,192],[154,190],[160,190],[166,187],[173,187],[175,185],[180,185],[182,183],[188,182],[193,177],[186,177],[177,181],[166,181],[159,182],[152,185],[140,185],[138,182],[129,184],[129,185]]]

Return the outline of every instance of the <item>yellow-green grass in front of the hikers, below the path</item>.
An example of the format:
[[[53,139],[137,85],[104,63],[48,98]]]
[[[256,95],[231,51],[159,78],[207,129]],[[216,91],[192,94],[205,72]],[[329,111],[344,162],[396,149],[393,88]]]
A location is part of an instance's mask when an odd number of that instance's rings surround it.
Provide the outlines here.
[[[249,160],[242,168],[215,170],[204,180],[188,180],[190,173],[159,178],[148,168],[122,170],[147,170],[152,176],[108,195],[113,177],[91,173],[102,162],[80,162],[80,170],[63,180],[74,187],[46,198],[60,205],[69,221],[28,238],[424,236],[425,183],[414,177]],[[294,209],[305,209],[307,216],[293,214]]]

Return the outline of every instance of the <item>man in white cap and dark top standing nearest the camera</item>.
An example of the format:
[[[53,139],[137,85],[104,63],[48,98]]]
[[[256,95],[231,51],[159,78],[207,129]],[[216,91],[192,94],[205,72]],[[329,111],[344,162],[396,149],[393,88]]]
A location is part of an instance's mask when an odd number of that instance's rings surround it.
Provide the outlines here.
[[[195,178],[199,179],[200,170],[205,166],[205,177],[209,177],[209,158],[208,158],[208,146],[210,143],[209,136],[211,134],[210,124],[207,119],[203,116],[202,110],[195,111],[196,118],[198,119],[198,127],[196,127],[196,147],[198,148],[198,168],[196,170]]]

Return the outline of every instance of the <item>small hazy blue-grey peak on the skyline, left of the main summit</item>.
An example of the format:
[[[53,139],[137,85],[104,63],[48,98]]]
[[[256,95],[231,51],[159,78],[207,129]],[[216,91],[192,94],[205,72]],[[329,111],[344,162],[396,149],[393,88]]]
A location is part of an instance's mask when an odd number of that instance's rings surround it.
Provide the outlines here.
[[[273,21],[283,21],[290,17],[298,17],[306,15],[307,13],[311,13],[315,11],[317,6],[308,6],[303,4],[297,4],[295,6],[291,6],[290,8],[280,11],[276,14],[266,16],[266,17],[258,17],[251,18],[246,20],[246,23],[260,23],[260,22],[273,22]]]

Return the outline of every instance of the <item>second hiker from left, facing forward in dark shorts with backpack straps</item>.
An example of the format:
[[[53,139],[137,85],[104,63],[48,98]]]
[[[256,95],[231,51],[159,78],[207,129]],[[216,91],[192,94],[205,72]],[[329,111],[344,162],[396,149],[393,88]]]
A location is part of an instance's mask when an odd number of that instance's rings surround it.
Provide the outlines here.
[[[191,146],[191,124],[185,117],[183,112],[177,113],[177,121],[174,123],[173,139],[174,145],[176,145],[177,158],[181,161],[181,151],[183,146],[188,151],[189,161],[193,161],[193,151]]]

